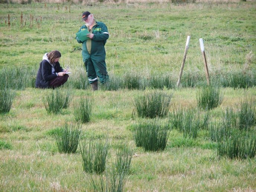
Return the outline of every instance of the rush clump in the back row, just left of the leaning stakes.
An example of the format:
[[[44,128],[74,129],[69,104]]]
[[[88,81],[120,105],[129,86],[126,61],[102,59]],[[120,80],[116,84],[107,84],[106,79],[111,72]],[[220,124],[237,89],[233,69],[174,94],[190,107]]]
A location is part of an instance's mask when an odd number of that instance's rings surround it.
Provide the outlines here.
[[[148,80],[148,87],[152,89],[172,89],[175,87],[175,81],[172,80],[171,75],[156,76],[155,74],[150,76]]]

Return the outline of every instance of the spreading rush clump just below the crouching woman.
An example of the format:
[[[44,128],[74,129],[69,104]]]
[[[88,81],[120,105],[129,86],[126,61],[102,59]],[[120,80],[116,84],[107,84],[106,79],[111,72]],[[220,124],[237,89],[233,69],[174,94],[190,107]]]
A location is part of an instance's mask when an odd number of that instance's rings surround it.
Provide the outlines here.
[[[49,89],[43,96],[42,100],[47,113],[58,114],[62,109],[68,108],[71,100],[73,99],[73,93],[70,89]]]

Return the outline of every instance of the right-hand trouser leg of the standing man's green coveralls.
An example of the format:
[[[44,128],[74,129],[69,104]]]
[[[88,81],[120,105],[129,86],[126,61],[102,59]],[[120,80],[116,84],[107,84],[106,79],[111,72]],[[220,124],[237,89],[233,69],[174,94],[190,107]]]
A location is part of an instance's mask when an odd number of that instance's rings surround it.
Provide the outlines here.
[[[92,59],[92,62],[93,62],[96,74],[99,77],[100,83],[104,84],[109,79],[105,61]]]

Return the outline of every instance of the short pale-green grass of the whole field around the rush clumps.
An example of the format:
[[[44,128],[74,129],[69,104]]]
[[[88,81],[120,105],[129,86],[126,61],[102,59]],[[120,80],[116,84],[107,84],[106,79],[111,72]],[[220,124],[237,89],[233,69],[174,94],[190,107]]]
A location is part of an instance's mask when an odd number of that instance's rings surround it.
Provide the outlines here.
[[[237,112],[241,100],[256,98],[255,1],[31,3],[0,4],[0,7],[0,72],[14,68],[29,74],[23,89],[16,90],[10,112],[0,115],[0,191],[93,190],[91,177],[83,172],[79,150],[61,154],[54,138],[56,128],[65,121],[75,121],[74,110],[81,94],[94,97],[92,116],[89,123],[82,125],[82,137],[109,138],[107,167],[114,161],[121,141],[127,139],[134,147],[124,191],[256,190],[256,157],[241,160],[218,156],[218,143],[209,137],[210,125],[200,129],[195,139],[184,138],[182,132],[172,128],[163,151],[145,152],[135,147],[132,131],[140,118],[134,114],[134,99],[150,92],[151,87],[100,89],[94,93],[89,88],[74,88],[76,77],[84,73],[81,44],[77,43],[75,33],[82,25],[81,13],[89,10],[96,20],[108,26],[106,64],[113,77],[122,78],[128,73],[148,80],[169,75],[176,83],[188,35],[191,42],[184,77],[193,74],[196,81],[206,82],[199,38],[204,39],[210,80],[221,76],[225,81],[235,73],[252,74],[252,86],[247,89],[220,88],[223,102],[209,112],[211,122],[221,121],[227,107]],[[62,54],[61,65],[70,66],[72,72],[61,89],[74,94],[70,106],[57,115],[45,110],[42,99],[49,90],[35,89],[31,81],[43,55],[54,49]],[[3,84],[7,81],[5,73],[0,74]],[[197,86],[173,89],[165,86],[162,91],[173,94],[172,105],[167,116],[160,120],[167,122],[176,107],[195,108],[203,113],[197,108]],[[256,135],[255,128],[253,125],[248,131],[236,131],[238,135]]]

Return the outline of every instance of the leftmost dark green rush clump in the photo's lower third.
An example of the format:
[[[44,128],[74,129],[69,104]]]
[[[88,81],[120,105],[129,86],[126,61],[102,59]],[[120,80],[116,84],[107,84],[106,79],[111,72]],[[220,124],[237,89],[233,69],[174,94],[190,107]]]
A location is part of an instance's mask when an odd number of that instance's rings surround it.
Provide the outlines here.
[[[60,153],[76,153],[81,134],[80,124],[68,124],[55,129],[54,137]]]

